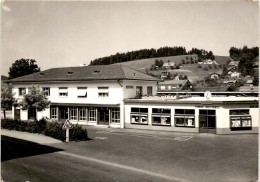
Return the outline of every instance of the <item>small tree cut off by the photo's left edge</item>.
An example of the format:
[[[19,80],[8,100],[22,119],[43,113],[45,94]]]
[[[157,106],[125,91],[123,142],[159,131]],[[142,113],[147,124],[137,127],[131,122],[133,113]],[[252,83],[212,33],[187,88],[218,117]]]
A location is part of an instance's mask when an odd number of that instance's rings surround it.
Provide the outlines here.
[[[14,94],[12,92],[12,85],[6,85],[1,88],[1,108],[4,112],[4,119],[6,119],[6,110],[11,110],[15,102]]]

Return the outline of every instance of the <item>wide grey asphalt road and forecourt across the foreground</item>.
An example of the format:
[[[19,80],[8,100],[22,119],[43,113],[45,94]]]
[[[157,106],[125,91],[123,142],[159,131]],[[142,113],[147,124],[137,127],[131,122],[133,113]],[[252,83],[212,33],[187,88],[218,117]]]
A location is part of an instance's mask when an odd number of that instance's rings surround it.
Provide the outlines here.
[[[7,157],[2,163],[2,176],[10,181],[257,179],[258,135],[185,134],[92,128],[88,131],[92,139],[90,141],[48,145],[50,148],[47,147],[47,151],[39,149],[39,153],[35,150],[36,146],[25,144],[25,148],[28,149],[26,151],[36,151],[36,154],[21,155],[21,150],[9,148],[8,150],[17,151],[21,156]],[[2,145],[12,146],[9,142],[10,139],[4,139]]]

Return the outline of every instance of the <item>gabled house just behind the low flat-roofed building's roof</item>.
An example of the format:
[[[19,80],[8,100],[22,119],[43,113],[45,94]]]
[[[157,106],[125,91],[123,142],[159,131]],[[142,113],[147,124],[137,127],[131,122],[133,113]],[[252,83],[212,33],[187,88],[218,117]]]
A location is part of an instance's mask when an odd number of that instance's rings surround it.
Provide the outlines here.
[[[192,84],[189,80],[167,80],[160,82],[157,86],[158,92],[190,91]]]

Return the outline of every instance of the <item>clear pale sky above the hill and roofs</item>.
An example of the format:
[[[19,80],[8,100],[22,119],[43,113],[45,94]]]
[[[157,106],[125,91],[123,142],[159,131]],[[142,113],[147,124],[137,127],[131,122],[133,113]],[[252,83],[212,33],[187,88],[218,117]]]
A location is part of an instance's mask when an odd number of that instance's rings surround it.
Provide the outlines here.
[[[1,74],[21,58],[46,70],[164,46],[228,56],[259,46],[258,12],[253,1],[5,1]]]

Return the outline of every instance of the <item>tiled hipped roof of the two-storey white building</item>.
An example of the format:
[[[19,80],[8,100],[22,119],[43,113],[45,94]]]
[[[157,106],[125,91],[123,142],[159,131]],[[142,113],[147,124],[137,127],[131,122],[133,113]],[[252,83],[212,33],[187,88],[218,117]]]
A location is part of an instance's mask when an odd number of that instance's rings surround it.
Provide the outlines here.
[[[51,68],[8,80],[8,82],[88,81],[88,80],[146,80],[160,81],[123,65],[98,65]]]

